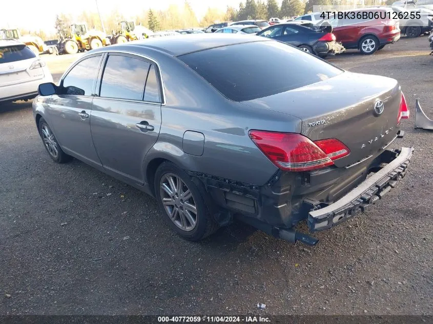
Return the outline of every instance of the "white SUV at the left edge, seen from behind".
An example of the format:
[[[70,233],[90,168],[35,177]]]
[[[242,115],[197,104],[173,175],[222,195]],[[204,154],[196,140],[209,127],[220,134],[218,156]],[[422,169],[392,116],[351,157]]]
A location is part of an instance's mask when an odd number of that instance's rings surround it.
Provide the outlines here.
[[[53,77],[43,60],[22,42],[0,39],[0,102],[32,99],[45,82]]]

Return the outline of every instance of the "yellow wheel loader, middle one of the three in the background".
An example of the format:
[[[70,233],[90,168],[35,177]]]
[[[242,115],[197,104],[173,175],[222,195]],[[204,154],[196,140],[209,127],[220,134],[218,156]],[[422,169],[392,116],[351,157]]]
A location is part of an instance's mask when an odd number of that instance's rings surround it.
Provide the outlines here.
[[[85,24],[72,24],[69,35],[60,35],[57,47],[60,54],[75,54],[108,45],[110,40],[104,32],[88,30]]]

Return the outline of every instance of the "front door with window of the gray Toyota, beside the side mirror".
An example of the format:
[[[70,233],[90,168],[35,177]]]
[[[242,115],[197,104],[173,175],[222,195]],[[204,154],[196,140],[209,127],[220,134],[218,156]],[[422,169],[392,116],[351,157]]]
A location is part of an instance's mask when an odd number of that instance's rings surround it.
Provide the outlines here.
[[[100,165],[90,134],[90,115],[102,54],[78,61],[60,81],[61,94],[51,96],[45,118],[61,148],[87,163]]]

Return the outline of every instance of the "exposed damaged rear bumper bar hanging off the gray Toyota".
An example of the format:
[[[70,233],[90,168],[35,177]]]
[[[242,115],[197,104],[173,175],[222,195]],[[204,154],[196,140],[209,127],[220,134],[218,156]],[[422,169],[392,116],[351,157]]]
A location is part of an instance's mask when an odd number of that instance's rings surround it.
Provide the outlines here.
[[[389,151],[386,157],[388,161],[383,161],[388,163],[387,165],[333,204],[311,210],[308,213],[310,231],[316,232],[336,226],[381,199],[405,176],[413,150],[413,147],[402,147]]]

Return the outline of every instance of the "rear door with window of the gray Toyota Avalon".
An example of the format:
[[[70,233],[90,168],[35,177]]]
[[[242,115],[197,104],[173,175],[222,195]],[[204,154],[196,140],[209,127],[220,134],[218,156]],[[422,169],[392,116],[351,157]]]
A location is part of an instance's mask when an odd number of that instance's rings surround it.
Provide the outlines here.
[[[142,162],[158,139],[163,103],[154,61],[109,53],[98,78],[91,129],[104,168],[134,183],[144,183]]]

